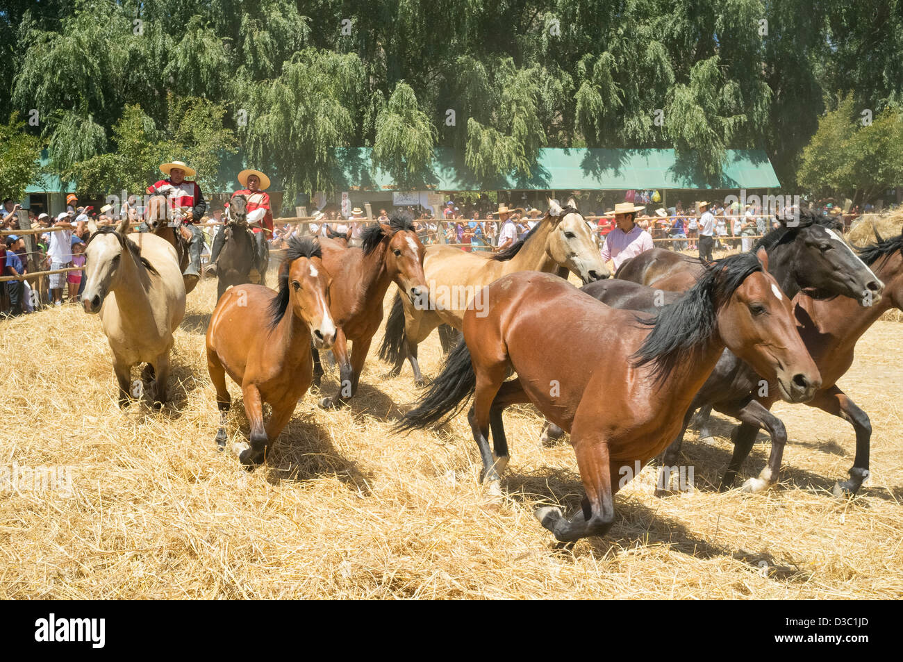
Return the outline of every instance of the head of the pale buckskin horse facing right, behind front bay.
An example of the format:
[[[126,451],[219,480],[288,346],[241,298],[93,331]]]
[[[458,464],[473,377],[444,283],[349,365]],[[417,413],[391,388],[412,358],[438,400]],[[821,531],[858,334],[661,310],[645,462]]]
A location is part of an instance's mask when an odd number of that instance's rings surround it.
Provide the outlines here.
[[[599,246],[590,227],[577,210],[577,203],[568,199],[564,207],[557,200],[547,199],[549,210],[546,218],[552,231],[546,243],[546,254],[559,265],[567,267],[583,284],[608,278],[611,273],[599,252]]]

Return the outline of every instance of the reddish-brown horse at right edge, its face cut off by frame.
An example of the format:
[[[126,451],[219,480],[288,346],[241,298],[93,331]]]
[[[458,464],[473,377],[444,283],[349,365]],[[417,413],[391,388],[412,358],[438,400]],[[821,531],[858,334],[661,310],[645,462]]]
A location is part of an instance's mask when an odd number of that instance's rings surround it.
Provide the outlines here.
[[[797,294],[793,300],[800,336],[823,378],[822,387],[805,404],[841,417],[852,424],[856,433],[856,455],[849,471],[850,480],[838,480],[834,484],[835,497],[856,494],[868,478],[871,444],[869,415],[837,386],[837,380],[852,366],[853,351],[862,334],[891,308],[903,310],[903,235],[883,239],[877,229],[875,235],[877,243],[859,250],[863,262],[872,266],[875,275],[885,283],[884,294],[877,301],[863,306],[861,301],[846,296],[819,299],[802,293]],[[768,385],[768,393],[775,393],[771,384]],[[768,411],[776,398],[760,396],[757,391],[754,400],[766,410],[762,418],[771,433],[772,444],[783,449],[787,443],[787,429],[777,416]],[[733,486],[758,432],[758,425],[745,422],[735,430],[731,437],[734,443],[733,456],[721,480],[722,490]],[[777,482],[777,474],[770,471],[769,466],[758,478],[749,479],[744,487],[750,491],[759,491]]]

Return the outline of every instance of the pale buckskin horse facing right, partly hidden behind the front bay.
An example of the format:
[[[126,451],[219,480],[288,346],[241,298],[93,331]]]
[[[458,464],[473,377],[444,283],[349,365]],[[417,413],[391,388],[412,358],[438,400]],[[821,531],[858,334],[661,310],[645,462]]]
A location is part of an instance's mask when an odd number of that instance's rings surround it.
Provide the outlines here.
[[[424,275],[430,284],[428,305],[396,294],[386,322],[379,358],[393,364],[392,376],[401,372],[405,359],[414,370],[414,383],[424,383],[417,361],[417,345],[442,323],[461,330],[464,312],[473,295],[503,275],[518,271],[542,271],[566,276],[568,271],[583,283],[608,278],[599,246],[576,208],[573,198],[561,207],[548,200],[549,210],[533,229],[495,255],[467,253],[460,248],[433,244],[426,248]],[[443,333],[445,346],[449,334]]]

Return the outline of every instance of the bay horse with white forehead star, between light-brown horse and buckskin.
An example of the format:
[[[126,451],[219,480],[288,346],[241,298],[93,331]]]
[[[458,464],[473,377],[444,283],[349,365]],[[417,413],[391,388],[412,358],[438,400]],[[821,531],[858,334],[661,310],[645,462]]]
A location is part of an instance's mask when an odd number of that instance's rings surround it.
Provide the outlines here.
[[[373,335],[383,319],[383,299],[395,283],[405,299],[424,301],[429,290],[424,280],[424,245],[414,231],[412,217],[393,212],[388,223],[376,223],[361,235],[361,247],[322,238],[323,264],[332,276],[330,311],[339,327],[332,354],[339,364],[339,392],[323,397],[324,409],[340,407],[358,391],[360,372]],[[349,355],[348,340],[354,345]],[[320,385],[323,368],[313,351],[314,384]]]

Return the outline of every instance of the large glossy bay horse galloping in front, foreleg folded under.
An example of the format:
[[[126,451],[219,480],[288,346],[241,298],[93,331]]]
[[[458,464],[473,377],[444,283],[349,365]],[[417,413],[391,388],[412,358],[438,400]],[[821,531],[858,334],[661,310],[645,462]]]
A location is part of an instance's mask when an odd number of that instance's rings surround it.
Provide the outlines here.
[[[447,420],[473,393],[470,427],[484,480],[496,481],[507,464],[502,411],[533,403],[571,432],[586,490],[573,519],[558,508],[539,508],[536,517],[562,542],[604,535],[614,523],[612,495],[671,442],[725,346],[795,400],[820,386],[767,264],[765,251],[714,262],[657,316],[610,308],[554,275],[507,275],[487,288],[484,316],[468,310],[464,342],[398,427]],[[550,332],[550,320],[567,332]],[[517,379],[506,382],[511,369]]]

